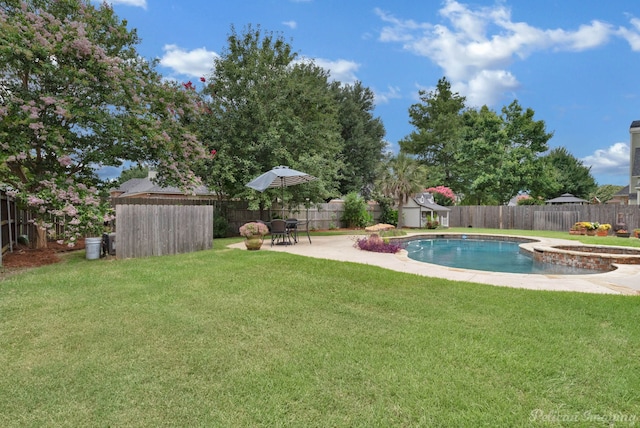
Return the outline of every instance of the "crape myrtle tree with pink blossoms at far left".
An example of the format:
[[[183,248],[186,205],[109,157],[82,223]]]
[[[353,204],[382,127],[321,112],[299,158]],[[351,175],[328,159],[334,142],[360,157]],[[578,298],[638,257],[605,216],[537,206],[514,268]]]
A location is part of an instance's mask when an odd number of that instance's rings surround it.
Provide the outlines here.
[[[185,126],[190,91],[163,82],[139,39],[106,3],[0,1],[0,181],[37,213],[37,245],[52,220],[73,242],[101,231],[95,170],[144,161],[160,184],[189,189],[208,156]]]

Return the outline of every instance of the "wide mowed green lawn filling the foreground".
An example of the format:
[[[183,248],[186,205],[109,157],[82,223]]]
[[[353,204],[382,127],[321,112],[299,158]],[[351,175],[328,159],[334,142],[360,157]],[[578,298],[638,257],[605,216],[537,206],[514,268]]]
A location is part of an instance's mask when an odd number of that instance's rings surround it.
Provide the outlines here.
[[[638,297],[228,242],[0,281],[0,426],[640,424]]]

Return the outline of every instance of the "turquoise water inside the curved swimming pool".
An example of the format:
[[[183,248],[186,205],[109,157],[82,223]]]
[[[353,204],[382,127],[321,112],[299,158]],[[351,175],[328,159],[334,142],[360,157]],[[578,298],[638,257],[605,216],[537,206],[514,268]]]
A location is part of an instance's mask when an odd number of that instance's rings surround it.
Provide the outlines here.
[[[490,272],[583,275],[601,273],[592,269],[539,263],[520,251],[518,242],[480,239],[417,239],[405,249],[409,258],[425,263]]]

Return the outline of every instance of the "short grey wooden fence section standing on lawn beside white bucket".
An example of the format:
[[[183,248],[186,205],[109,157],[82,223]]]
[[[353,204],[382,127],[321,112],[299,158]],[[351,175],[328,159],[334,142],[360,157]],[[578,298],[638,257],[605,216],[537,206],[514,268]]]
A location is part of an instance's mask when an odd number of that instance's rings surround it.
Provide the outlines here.
[[[212,205],[116,205],[118,258],[162,256],[213,247]]]

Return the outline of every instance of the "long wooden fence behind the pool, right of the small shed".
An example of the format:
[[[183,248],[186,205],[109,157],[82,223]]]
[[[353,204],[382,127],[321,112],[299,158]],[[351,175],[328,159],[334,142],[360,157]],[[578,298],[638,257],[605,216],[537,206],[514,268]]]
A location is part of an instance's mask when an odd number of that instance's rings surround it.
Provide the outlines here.
[[[640,208],[635,205],[522,205],[450,207],[450,227],[568,231],[577,221],[625,224],[640,228]]]

